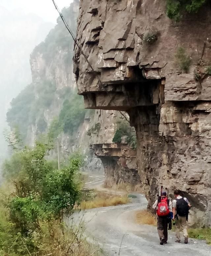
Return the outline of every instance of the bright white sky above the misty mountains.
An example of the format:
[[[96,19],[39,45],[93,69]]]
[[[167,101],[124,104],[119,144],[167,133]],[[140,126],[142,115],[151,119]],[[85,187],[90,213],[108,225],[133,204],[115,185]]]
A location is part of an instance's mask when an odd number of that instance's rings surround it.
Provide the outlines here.
[[[55,0],[59,9],[67,7],[73,0]],[[21,9],[23,12],[34,13],[45,21],[56,23],[58,13],[51,0],[0,0],[0,5],[8,10]]]

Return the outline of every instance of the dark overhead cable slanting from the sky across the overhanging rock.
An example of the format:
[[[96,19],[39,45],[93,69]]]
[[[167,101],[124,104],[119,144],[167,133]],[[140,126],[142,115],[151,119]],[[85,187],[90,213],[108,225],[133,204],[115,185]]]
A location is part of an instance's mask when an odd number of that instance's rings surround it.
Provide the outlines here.
[[[78,44],[78,42],[77,42],[77,40],[76,40],[76,38],[75,38],[75,36],[74,36],[74,33],[72,32],[72,30],[71,30],[70,26],[68,25],[66,19],[64,18],[64,16],[62,15],[61,11],[59,10],[57,4],[55,3],[54,0],[52,0],[52,2],[53,2],[53,5],[55,6],[57,12],[59,13],[59,16],[61,17],[61,19],[62,19],[62,21],[63,21],[65,27],[67,28],[68,32],[70,33],[71,37],[73,38],[73,40],[74,40],[74,42],[75,42],[75,45],[78,47],[79,51],[80,51],[81,54],[84,56],[86,62],[87,62],[88,65],[90,66],[91,70],[96,74],[96,77],[97,77],[97,79],[98,79],[98,81],[99,81],[99,83],[100,83],[102,89],[103,89],[104,91],[106,91],[105,88],[104,88],[104,86],[103,86],[103,83],[102,83],[101,79],[99,78],[97,72],[93,69],[91,63],[89,62],[89,60],[88,60],[86,54],[83,52],[81,46]],[[116,106],[116,104],[115,104],[113,98],[109,95],[109,93],[108,93],[107,91],[106,91],[106,93],[107,93],[108,97],[110,98],[110,102],[112,101],[112,102],[114,103],[114,106]],[[126,121],[129,122],[129,120],[128,120],[128,118],[126,118],[125,114],[123,114],[121,111],[119,111],[119,112],[120,112],[120,114],[126,119]]]

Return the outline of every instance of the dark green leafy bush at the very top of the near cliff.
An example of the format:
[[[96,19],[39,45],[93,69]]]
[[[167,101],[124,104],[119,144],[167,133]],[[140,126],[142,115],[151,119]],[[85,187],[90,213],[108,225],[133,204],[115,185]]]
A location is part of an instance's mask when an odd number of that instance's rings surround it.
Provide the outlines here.
[[[166,14],[170,19],[179,21],[182,13],[197,13],[208,0],[166,0]]]

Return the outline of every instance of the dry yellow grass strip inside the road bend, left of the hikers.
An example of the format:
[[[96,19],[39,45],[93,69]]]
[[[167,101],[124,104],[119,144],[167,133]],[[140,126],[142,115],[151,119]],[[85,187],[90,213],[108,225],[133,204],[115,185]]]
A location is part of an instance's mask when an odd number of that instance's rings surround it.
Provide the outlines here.
[[[124,205],[128,203],[128,197],[108,194],[106,192],[97,192],[97,196],[91,201],[82,201],[81,209],[100,208],[106,206]]]

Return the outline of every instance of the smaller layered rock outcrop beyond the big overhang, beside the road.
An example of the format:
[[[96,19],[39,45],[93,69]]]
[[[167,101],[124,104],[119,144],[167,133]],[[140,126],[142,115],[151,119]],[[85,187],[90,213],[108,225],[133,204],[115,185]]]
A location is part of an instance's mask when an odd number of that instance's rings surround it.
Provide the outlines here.
[[[125,136],[122,143],[113,143],[117,122],[125,121],[125,118],[118,111],[98,110],[93,120],[92,123],[99,124],[99,130],[91,135],[89,143],[94,154],[102,161],[105,186],[120,188],[130,185],[133,190],[140,190],[136,149],[126,143]]]

